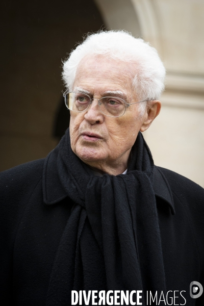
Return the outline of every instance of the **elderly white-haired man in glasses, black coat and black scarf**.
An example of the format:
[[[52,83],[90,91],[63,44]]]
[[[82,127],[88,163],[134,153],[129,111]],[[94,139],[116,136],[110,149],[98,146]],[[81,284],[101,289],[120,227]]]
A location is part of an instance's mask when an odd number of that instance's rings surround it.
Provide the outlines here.
[[[203,305],[203,189],[156,167],[141,134],[164,77],[123,31],[64,62],[70,128],[1,176],[1,305]]]

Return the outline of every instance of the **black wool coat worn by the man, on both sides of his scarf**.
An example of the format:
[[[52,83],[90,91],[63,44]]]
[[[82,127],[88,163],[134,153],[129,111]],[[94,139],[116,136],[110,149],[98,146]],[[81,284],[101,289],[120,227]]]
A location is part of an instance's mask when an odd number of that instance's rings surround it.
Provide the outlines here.
[[[46,304],[50,274],[74,203],[64,193],[55,169],[48,173],[43,165],[41,159],[0,175],[2,306]],[[154,191],[169,296],[175,296],[175,305],[204,305],[204,294],[197,299],[189,294],[191,282],[204,286],[204,191],[157,166]]]

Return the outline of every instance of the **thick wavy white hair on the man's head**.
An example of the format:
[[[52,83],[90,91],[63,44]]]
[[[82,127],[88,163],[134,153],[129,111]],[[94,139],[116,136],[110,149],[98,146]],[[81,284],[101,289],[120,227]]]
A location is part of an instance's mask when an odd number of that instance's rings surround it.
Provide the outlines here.
[[[87,55],[103,55],[114,60],[131,62],[136,70],[132,85],[139,100],[159,99],[164,90],[165,68],[157,50],[141,38],[126,31],[99,31],[88,34],[84,41],[63,62],[63,81],[72,90],[80,61]],[[141,112],[145,104],[140,103]]]

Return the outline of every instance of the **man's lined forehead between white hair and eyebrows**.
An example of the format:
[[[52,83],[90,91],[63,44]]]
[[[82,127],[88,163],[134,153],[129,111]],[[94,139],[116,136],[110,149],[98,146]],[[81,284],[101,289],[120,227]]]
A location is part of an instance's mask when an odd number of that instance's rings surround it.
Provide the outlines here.
[[[82,88],[89,93],[123,92],[133,95],[133,79],[136,68],[133,63],[122,62],[104,56],[84,57],[77,69],[73,88]]]

